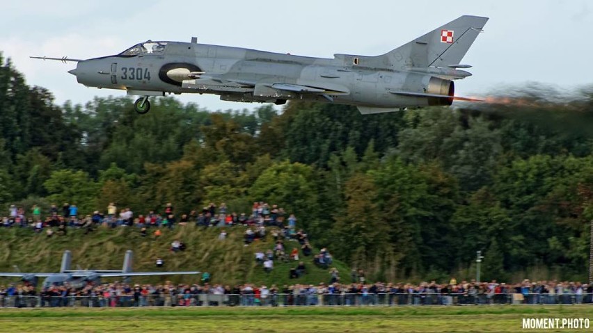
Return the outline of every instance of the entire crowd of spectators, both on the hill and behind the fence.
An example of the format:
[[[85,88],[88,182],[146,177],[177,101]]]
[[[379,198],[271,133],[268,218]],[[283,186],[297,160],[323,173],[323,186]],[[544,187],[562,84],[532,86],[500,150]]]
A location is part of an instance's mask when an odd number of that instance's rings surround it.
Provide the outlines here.
[[[159,286],[143,285],[130,286],[128,284],[89,285],[84,289],[72,289],[69,286],[53,286],[41,291],[40,299],[47,306],[64,305],[65,300],[81,298],[81,300],[96,300],[90,306],[143,306],[149,304],[160,305],[200,305],[205,298],[197,295],[228,295],[221,300],[213,300],[213,304],[228,305],[253,304],[504,304],[509,302],[523,302],[528,304],[548,303],[581,303],[593,302],[593,286],[580,282],[539,281],[530,282],[525,279],[517,284],[477,283],[462,281],[457,283],[451,279],[448,284],[436,282],[422,282],[420,284],[395,284],[375,282],[369,283],[363,270],[352,270],[350,281],[340,279],[337,268],[331,267],[333,257],[322,248],[318,254],[313,254],[313,247],[308,240],[308,234],[303,229],[297,229],[297,218],[289,215],[276,204],[254,202],[250,215],[246,213],[228,213],[226,204],[218,207],[211,203],[203,207],[202,211],[191,211],[182,214],[177,220],[175,209],[171,203],[166,204],[162,213],[150,211],[146,215],[134,216],[129,208],[120,209],[114,203],[106,207],[107,214],[95,211],[93,215],[79,216],[75,204],[65,203],[58,209],[52,204],[47,216],[42,216],[40,207],[33,206],[31,214],[24,209],[11,205],[8,216],[2,218],[4,227],[31,227],[35,232],[45,232],[52,237],[54,229],[58,234],[66,235],[69,228],[85,228],[92,232],[95,227],[130,227],[140,228],[142,236],[148,236],[148,229],[154,228],[155,237],[161,235],[161,229],[174,228],[175,225],[195,223],[201,227],[230,227],[234,225],[246,226],[244,245],[249,246],[255,241],[267,242],[273,240],[269,248],[255,252],[255,261],[266,273],[274,270],[274,263],[294,262],[290,268],[290,279],[297,279],[308,273],[306,258],[310,263],[329,270],[328,282],[317,285],[292,284],[278,287],[255,286],[253,284],[237,285],[234,287],[219,284],[209,285],[209,274],[202,279],[203,284],[173,286],[164,284]],[[269,233],[269,235],[268,235]],[[225,241],[227,233],[221,229],[219,240]],[[171,243],[170,250],[179,252],[185,250],[186,245],[179,240]],[[157,259],[157,266],[161,259]],[[0,300],[27,295],[37,295],[35,289],[29,286],[0,286]],[[280,300],[279,297],[282,297]],[[339,297],[338,297],[339,296]],[[207,302],[211,302],[209,298]],[[47,302],[45,301],[47,300]],[[84,302],[86,302],[84,301]],[[70,301],[68,301],[70,302]],[[46,304],[47,303],[47,304]],[[0,304],[1,305],[1,304]]]

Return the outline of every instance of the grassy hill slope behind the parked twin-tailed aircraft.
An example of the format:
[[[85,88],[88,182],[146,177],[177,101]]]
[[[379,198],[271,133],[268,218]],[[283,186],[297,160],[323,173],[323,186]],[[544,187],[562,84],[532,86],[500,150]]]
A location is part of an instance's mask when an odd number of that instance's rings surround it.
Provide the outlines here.
[[[177,226],[173,230],[163,229],[162,236],[141,236],[139,228],[99,227],[90,234],[84,229],[68,229],[68,235],[54,234],[47,238],[45,233],[35,234],[31,229],[0,229],[0,271],[15,272],[17,265],[22,272],[58,272],[64,250],[72,251],[72,269],[121,269],[126,250],[134,250],[134,271],[154,270],[199,270],[211,274],[211,283],[237,284],[318,284],[329,282],[329,270],[317,268],[313,256],[303,257],[308,274],[299,279],[289,279],[290,268],[297,262],[274,261],[274,270],[267,274],[261,265],[255,263],[255,251],[273,249],[274,240],[269,235],[266,241],[255,241],[244,246],[243,234],[246,227],[226,228],[226,240],[219,240],[221,229],[204,229],[194,225]],[[183,241],[187,250],[171,252],[171,242]],[[298,247],[296,241],[285,241],[287,252]],[[330,249],[331,250],[331,249]],[[314,253],[317,253],[314,250]],[[165,267],[155,267],[157,257],[164,259]],[[349,277],[349,268],[340,261],[332,267],[338,268],[343,280]],[[170,280],[176,283],[198,282],[198,277],[178,275],[166,277],[135,277],[135,283],[161,283]],[[109,280],[108,280],[109,281]],[[15,279],[0,278],[0,284],[15,282]]]

